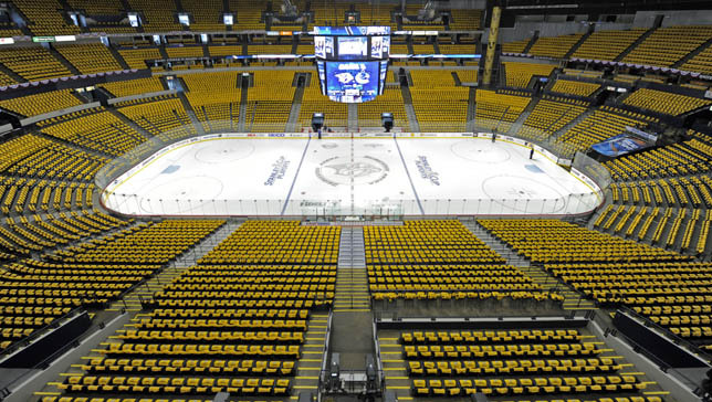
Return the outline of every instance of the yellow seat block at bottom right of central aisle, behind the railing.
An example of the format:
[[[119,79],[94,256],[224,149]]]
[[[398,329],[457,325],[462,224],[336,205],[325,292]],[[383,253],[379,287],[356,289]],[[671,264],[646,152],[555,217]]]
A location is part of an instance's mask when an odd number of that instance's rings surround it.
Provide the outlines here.
[[[653,382],[621,373],[619,356],[583,329],[401,331],[402,358],[417,398],[543,395],[643,398]],[[423,377],[426,377],[423,379]]]

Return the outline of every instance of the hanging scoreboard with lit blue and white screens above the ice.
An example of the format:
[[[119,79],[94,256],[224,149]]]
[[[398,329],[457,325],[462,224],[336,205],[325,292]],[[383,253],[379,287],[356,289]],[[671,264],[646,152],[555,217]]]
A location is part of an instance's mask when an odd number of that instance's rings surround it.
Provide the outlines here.
[[[322,94],[342,103],[381,95],[390,54],[390,27],[315,27],[314,56]]]

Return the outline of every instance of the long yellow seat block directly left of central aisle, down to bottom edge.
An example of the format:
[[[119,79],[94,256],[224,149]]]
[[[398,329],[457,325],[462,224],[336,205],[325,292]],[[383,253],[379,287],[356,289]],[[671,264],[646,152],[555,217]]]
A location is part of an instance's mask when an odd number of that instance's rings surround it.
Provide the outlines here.
[[[289,395],[303,353],[301,345],[306,341],[310,309],[331,305],[334,294],[286,295],[282,289],[301,283],[333,284],[336,269],[331,260],[329,265],[315,266],[304,265],[301,258],[282,261],[279,250],[337,251],[338,234],[333,228],[300,226],[299,222],[243,223],[206,258],[230,257],[233,247],[278,252],[265,253],[260,265],[223,262],[184,271],[143,303],[145,314],[132,328],[103,343],[98,356],[83,362],[84,372],[64,379],[59,390],[86,398],[107,393]],[[270,288],[258,296],[244,286]],[[279,303],[285,296],[290,303]]]

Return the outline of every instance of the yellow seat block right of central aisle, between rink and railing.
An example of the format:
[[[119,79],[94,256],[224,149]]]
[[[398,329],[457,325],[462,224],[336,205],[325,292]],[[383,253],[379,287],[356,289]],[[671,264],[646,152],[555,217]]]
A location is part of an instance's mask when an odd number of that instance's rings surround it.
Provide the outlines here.
[[[364,228],[374,300],[555,300],[459,221]]]

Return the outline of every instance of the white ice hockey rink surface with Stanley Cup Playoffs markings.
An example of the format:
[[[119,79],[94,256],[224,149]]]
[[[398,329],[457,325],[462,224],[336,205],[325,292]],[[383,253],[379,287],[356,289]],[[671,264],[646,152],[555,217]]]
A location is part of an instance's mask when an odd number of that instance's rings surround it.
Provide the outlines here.
[[[599,190],[507,140],[220,137],[157,151],[111,182],[129,215],[578,214]]]

